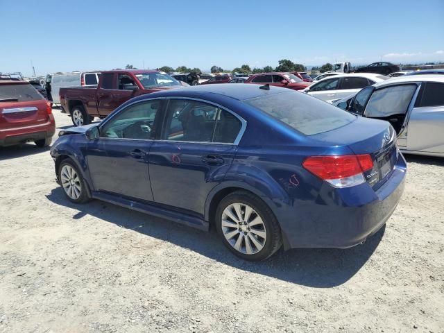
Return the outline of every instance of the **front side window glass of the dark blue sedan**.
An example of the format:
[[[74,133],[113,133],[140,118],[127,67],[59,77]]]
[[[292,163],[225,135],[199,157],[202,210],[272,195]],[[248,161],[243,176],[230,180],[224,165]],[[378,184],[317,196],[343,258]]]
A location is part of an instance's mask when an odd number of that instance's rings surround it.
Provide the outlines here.
[[[124,108],[101,128],[101,137],[154,139],[154,120],[160,103],[146,101]]]

